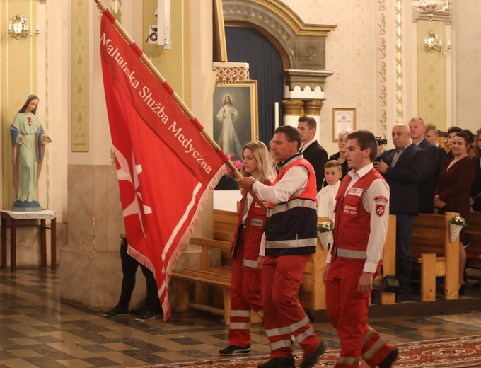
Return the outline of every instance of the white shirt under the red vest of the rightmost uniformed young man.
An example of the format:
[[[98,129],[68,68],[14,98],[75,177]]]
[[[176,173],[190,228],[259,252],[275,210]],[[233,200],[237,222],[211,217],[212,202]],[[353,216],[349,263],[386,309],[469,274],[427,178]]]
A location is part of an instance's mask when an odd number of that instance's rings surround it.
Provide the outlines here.
[[[347,190],[352,188],[354,184],[366,175],[373,168],[373,164],[364,166],[358,171],[351,170],[349,175],[352,180],[349,183]],[[347,192],[346,190],[346,192]],[[345,195],[345,193],[344,193]],[[383,254],[384,242],[386,241],[386,232],[388,231],[388,218],[389,218],[389,185],[383,179],[374,180],[369,188],[367,188],[362,195],[362,205],[366,212],[371,214],[371,233],[369,234],[369,240],[367,242],[366,261],[364,263],[364,272],[374,273],[378,267],[379,260]],[[381,216],[376,214],[376,206],[384,206],[384,212]],[[329,250],[326,263],[330,264],[332,258],[332,247]]]

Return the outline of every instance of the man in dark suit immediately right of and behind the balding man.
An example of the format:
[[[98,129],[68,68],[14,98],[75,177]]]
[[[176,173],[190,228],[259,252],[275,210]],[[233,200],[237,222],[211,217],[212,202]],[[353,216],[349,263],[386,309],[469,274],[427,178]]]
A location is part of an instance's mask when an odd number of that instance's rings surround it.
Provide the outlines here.
[[[409,122],[410,137],[412,144],[415,144],[427,153],[427,165],[424,167],[419,182],[417,183],[417,201],[419,213],[434,214],[434,185],[436,182],[436,168],[438,166],[439,153],[436,146],[431,144],[425,137],[426,126],[421,117],[412,117]]]

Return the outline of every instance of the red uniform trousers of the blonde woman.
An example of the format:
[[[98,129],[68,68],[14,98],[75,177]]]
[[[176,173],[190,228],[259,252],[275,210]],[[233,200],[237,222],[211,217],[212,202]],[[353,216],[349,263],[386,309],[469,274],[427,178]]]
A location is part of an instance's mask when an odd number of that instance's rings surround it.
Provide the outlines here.
[[[250,310],[262,318],[262,272],[259,268],[245,267],[245,231],[239,231],[232,260],[231,318],[228,329],[229,345],[250,344]]]

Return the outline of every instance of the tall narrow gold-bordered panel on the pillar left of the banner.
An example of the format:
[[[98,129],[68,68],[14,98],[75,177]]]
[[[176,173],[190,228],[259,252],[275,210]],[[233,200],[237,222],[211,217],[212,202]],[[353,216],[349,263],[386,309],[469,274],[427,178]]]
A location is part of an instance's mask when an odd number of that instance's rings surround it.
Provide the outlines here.
[[[72,1],[72,152],[88,152],[88,5]]]

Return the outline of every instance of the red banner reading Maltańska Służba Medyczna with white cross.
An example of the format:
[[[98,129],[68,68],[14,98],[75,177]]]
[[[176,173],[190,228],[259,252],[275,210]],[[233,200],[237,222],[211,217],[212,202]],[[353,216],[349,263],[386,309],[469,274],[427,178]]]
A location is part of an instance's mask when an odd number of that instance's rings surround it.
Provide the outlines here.
[[[156,277],[166,320],[170,275],[224,162],[111,20],[100,54],[128,252]]]

